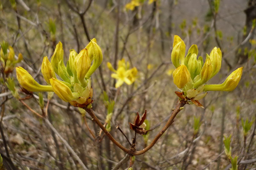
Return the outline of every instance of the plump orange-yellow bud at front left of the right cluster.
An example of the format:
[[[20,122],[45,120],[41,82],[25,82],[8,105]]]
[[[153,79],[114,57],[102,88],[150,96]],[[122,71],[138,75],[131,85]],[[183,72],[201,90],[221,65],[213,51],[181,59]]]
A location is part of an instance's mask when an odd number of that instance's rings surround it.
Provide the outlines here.
[[[178,88],[184,88],[190,79],[190,73],[185,65],[180,65],[172,73],[173,82]]]

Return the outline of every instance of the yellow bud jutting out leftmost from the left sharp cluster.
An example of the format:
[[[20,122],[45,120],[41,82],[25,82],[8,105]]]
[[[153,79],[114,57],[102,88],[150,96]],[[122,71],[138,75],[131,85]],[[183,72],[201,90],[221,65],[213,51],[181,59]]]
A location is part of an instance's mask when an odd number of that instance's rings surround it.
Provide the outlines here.
[[[31,92],[52,92],[52,86],[39,85],[36,80],[22,67],[16,67],[17,79],[22,87]]]

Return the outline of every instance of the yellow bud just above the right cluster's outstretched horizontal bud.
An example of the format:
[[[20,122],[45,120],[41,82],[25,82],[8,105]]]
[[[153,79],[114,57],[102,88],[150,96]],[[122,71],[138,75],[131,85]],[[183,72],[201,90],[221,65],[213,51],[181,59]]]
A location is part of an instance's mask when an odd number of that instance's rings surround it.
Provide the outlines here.
[[[211,60],[208,58],[205,60],[204,66],[200,72],[200,79],[197,80],[194,84],[194,87],[197,88],[200,85],[203,85],[206,83],[212,75],[212,65],[211,65]]]

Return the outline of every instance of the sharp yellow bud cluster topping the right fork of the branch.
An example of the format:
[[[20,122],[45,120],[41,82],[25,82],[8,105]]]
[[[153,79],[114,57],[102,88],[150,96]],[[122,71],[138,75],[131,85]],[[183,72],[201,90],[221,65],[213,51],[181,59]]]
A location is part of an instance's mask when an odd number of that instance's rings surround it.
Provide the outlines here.
[[[205,85],[220,71],[222,59],[220,48],[215,47],[210,55],[206,54],[205,62],[202,56],[197,58],[196,45],[189,48],[186,57],[185,49],[185,43],[175,35],[171,59],[176,69],[172,76],[174,84],[181,91],[181,93],[176,92],[180,98],[191,100],[198,106],[200,103],[197,100],[202,99],[207,91],[232,91],[236,88],[241,79],[243,67],[233,71],[222,84]]]

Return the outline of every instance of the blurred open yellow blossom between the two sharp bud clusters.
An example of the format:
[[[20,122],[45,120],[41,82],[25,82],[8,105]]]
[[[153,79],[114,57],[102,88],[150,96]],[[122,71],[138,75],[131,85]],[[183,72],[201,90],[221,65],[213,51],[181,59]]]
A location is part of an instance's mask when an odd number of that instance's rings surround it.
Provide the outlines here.
[[[131,85],[137,78],[138,70],[136,67],[130,69],[130,63],[125,62],[124,58],[118,61],[117,70],[115,70],[111,63],[107,63],[108,69],[113,71],[111,74],[112,78],[116,78],[117,82],[115,87],[118,88],[124,84]]]

